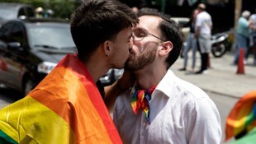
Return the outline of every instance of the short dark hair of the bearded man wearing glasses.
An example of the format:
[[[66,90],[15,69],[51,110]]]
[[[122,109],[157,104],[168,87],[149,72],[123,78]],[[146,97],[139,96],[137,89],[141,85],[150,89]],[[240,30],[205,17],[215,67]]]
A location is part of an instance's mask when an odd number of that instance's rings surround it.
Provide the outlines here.
[[[181,49],[183,46],[183,33],[181,30],[181,26],[178,26],[178,23],[171,20],[171,16],[168,16],[153,8],[141,8],[137,16],[159,16],[162,19],[159,24],[161,37],[162,39],[165,39],[166,41],[171,41],[173,43],[173,50],[168,54],[168,58],[166,59],[168,69],[168,67],[171,67],[173,63],[178,59],[181,53]]]

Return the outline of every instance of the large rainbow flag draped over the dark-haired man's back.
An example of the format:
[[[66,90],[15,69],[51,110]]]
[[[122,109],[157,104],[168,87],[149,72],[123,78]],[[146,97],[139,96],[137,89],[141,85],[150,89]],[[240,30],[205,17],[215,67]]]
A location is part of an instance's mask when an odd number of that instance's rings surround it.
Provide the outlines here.
[[[67,55],[25,98],[0,110],[0,143],[121,143],[86,67]]]

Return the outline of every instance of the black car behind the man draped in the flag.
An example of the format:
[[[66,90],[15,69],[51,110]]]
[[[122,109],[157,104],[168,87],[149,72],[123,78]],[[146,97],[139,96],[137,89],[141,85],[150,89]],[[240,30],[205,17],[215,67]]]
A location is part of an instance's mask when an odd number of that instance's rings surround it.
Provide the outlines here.
[[[67,53],[76,47],[69,21],[17,19],[0,28],[0,83],[25,95],[31,91]],[[100,80],[107,86],[122,70],[111,69]]]

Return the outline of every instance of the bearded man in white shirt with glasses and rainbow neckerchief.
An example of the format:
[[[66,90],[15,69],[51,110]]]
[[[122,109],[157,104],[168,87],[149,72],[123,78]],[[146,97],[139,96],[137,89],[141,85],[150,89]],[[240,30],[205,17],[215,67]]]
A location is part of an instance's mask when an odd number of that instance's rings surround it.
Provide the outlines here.
[[[199,87],[169,68],[180,55],[182,31],[155,9],[142,8],[126,70],[135,85],[116,99],[113,119],[123,143],[220,143],[220,114]]]

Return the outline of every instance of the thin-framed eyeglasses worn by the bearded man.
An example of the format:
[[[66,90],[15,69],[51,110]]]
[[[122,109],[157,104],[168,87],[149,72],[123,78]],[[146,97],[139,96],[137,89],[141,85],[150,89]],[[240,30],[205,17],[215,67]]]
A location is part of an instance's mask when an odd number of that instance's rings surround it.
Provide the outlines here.
[[[140,41],[140,40],[144,39],[145,36],[147,36],[147,35],[154,36],[156,39],[160,39],[160,40],[163,41],[163,42],[165,41],[164,39],[161,39],[161,38],[159,38],[158,36],[155,36],[155,35],[153,35],[153,34],[150,34],[147,30],[140,29],[140,28],[135,28],[135,29],[133,30],[133,35],[132,35],[132,37],[133,37],[133,39],[134,39],[135,41]]]

